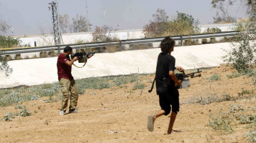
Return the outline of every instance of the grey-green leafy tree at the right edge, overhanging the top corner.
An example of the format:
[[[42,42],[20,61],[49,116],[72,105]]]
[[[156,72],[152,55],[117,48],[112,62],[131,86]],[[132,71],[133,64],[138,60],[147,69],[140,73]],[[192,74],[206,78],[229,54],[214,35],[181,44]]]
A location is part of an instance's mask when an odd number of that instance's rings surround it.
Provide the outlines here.
[[[223,4],[225,0],[212,0],[211,4],[214,8]],[[227,0],[226,0],[227,1]],[[237,0],[228,0],[232,5]],[[247,73],[249,71],[249,65],[256,62],[256,1],[246,0],[241,1],[247,8],[247,14],[249,20],[244,24],[242,31],[239,31],[236,37],[238,46],[234,46],[231,51],[227,51],[227,55],[224,56],[225,61],[231,62],[237,71],[240,73]]]

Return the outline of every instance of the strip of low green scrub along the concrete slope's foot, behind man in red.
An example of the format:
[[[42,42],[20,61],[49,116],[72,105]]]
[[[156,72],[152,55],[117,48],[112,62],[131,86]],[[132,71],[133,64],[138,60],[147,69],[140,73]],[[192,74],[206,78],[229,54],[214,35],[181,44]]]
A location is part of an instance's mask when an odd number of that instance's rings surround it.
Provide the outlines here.
[[[113,86],[121,87],[123,84],[137,82],[140,74],[131,74],[119,77],[90,77],[76,80],[78,94],[84,94],[86,89],[108,89]],[[134,89],[144,89],[145,84],[135,84]],[[19,102],[38,100],[41,97],[49,97],[45,102],[58,102],[62,92],[58,82],[52,84],[42,84],[32,87],[17,87],[10,89],[0,89],[0,107],[6,107]]]

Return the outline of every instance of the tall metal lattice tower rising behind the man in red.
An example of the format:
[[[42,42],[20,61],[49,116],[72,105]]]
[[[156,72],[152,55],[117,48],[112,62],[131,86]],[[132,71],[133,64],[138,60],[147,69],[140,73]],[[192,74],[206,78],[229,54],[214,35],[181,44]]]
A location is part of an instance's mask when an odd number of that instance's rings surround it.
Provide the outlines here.
[[[59,21],[58,21],[58,12],[57,12],[57,2],[52,1],[49,3],[49,10],[52,10],[52,25],[53,25],[53,34],[54,34],[54,43],[55,45],[60,44],[61,34],[59,29]],[[59,47],[59,54],[60,54],[60,47]]]

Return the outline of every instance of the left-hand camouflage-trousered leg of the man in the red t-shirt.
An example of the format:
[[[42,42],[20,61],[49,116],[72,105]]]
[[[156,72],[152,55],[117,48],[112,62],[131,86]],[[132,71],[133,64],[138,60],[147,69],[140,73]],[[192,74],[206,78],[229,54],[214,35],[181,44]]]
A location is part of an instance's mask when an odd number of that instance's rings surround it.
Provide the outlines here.
[[[61,92],[63,93],[63,99],[61,102],[61,111],[66,111],[68,107],[68,95],[69,95],[69,89],[70,89],[70,80],[68,79],[60,79],[60,87]]]

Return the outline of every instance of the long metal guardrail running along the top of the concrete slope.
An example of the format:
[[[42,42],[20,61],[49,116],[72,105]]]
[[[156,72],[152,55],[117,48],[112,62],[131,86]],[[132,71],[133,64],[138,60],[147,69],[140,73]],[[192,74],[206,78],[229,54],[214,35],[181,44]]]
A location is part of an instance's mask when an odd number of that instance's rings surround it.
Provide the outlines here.
[[[205,38],[216,38],[220,36],[236,36],[239,31],[227,31],[220,32],[215,34],[194,34],[194,35],[181,35],[181,36],[170,36],[173,40],[180,40],[181,45],[183,46],[183,40],[188,39],[205,39]],[[162,41],[165,37],[160,38],[150,38],[150,39],[130,39],[130,40],[120,40],[120,41],[111,41],[111,42],[99,42],[99,43],[85,43],[85,44],[63,44],[55,46],[37,46],[30,48],[15,48],[15,49],[1,49],[0,55],[9,55],[9,54],[22,54],[30,52],[39,52],[39,51],[55,51],[63,50],[65,46],[72,46],[73,49],[80,48],[93,48],[98,46],[122,46],[124,44],[145,44],[152,42]]]

